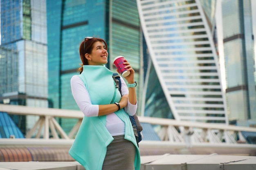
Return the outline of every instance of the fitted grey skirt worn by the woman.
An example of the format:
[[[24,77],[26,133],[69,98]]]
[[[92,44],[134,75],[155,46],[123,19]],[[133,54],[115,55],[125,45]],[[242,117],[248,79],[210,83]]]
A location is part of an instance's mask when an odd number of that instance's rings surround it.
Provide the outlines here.
[[[136,147],[124,139],[124,135],[113,136],[107,147],[102,170],[134,170]]]

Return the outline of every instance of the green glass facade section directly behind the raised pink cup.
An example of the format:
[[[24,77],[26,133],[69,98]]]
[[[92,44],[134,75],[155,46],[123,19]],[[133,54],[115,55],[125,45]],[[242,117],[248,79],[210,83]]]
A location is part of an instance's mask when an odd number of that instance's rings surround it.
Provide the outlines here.
[[[136,0],[111,0],[110,4],[110,36],[109,36],[109,60],[110,70],[116,70],[113,59],[119,55],[124,56],[135,70],[137,81],[137,114],[140,115],[141,89],[143,80],[140,75],[141,31]],[[124,79],[125,80],[125,79]],[[126,80],[125,80],[126,81]]]

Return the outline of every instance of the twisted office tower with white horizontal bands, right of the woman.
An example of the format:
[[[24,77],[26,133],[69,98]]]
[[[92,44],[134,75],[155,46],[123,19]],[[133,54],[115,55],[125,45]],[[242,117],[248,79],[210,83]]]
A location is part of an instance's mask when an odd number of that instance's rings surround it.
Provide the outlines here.
[[[215,42],[215,1],[137,0],[150,55],[145,116],[225,123]]]

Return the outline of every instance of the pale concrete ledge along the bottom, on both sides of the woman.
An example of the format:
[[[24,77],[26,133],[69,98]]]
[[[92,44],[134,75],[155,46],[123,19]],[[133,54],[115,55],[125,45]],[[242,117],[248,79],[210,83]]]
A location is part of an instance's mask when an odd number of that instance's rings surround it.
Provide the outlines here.
[[[141,157],[141,170],[256,170],[256,157],[237,155],[154,155]],[[0,162],[0,170],[85,170],[78,162]]]

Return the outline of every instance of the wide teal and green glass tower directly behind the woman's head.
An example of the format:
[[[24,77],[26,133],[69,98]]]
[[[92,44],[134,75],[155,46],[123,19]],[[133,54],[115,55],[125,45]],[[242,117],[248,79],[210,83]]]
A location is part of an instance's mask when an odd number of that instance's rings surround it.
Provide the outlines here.
[[[142,87],[139,24],[136,0],[47,0],[49,107],[79,109],[71,93],[70,79],[79,74],[79,46],[85,37],[106,40],[109,47],[106,67],[110,70],[116,70],[115,57],[126,57],[135,69],[139,94]]]

